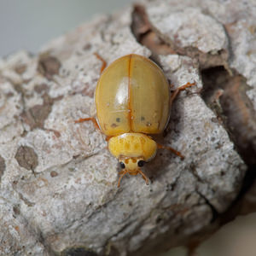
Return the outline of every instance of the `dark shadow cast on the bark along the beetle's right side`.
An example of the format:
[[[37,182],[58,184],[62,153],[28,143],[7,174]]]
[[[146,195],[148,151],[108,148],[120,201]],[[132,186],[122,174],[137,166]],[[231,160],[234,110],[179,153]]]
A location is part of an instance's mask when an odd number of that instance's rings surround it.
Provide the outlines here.
[[[182,97],[188,96],[186,95],[188,93],[189,92],[184,92]],[[177,96],[177,99],[172,103],[170,119],[166,125],[166,129],[162,134],[152,135],[151,137],[153,137],[154,141],[160,143],[163,146],[169,146],[179,151],[180,148],[177,148],[177,142],[180,140],[180,137],[182,137],[183,134],[183,114],[183,101],[179,100],[179,96]],[[180,153],[183,154],[183,152]],[[170,172],[170,165],[173,162],[177,164],[177,168],[175,168],[177,171],[178,164],[182,161],[183,160],[179,156],[170,152],[170,150],[159,148],[157,154],[154,157],[154,160],[151,160],[143,168],[143,172],[148,175],[151,182],[154,182],[154,180],[157,180],[161,175],[165,174],[166,172]],[[176,177],[177,172],[173,173],[173,175]]]

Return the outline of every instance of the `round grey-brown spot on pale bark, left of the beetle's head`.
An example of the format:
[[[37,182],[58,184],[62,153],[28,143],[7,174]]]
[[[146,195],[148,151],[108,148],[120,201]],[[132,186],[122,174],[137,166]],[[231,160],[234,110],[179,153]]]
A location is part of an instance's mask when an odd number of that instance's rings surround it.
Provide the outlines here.
[[[26,170],[34,170],[38,166],[38,154],[34,149],[27,146],[20,146],[15,154],[19,166],[26,168]]]

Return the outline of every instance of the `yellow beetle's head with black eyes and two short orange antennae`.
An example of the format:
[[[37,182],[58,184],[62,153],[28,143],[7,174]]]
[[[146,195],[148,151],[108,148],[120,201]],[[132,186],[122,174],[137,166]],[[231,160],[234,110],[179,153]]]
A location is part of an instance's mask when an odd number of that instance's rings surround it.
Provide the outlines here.
[[[140,173],[148,185],[148,177],[142,172],[140,168],[144,166],[144,163],[145,161],[141,157],[120,158],[119,165],[123,170],[119,172],[120,177],[119,177],[118,187],[120,186],[120,181],[122,177],[124,177],[127,172],[130,175],[137,175],[138,173]]]

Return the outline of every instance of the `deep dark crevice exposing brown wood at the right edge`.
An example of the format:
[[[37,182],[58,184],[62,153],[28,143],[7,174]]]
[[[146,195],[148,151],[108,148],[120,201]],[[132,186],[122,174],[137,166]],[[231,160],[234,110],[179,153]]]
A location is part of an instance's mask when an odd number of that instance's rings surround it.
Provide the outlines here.
[[[230,74],[224,67],[201,72],[204,84],[201,96],[218,121],[228,131],[247,166],[256,165],[256,113],[246,95],[249,86],[240,74]]]

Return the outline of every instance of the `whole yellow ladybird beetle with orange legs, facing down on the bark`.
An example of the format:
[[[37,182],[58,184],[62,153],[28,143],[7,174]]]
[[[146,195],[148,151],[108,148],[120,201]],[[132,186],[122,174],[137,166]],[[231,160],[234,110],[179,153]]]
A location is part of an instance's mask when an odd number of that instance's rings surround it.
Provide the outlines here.
[[[103,71],[106,62],[96,56],[103,63]],[[104,70],[96,85],[97,119],[90,117],[75,122],[91,120],[107,136],[110,153],[124,169],[119,172],[118,187],[127,172],[140,173],[148,184],[148,177],[140,167],[154,158],[157,148],[169,149],[183,158],[175,149],[154,142],[148,135],[164,131],[178,92],[194,84],[177,88],[171,96],[160,67],[142,55],[125,55]]]

